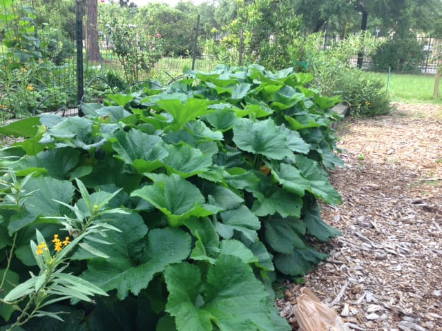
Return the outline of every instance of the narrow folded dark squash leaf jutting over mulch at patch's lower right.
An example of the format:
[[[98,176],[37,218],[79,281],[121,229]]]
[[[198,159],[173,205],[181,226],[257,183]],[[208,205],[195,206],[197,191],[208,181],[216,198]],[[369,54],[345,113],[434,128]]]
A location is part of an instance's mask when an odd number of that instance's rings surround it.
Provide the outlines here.
[[[336,236],[342,235],[338,229],[333,228],[323,221],[320,217],[320,205],[318,203],[310,205],[309,208],[305,210],[303,220],[310,234],[320,241],[327,242]]]

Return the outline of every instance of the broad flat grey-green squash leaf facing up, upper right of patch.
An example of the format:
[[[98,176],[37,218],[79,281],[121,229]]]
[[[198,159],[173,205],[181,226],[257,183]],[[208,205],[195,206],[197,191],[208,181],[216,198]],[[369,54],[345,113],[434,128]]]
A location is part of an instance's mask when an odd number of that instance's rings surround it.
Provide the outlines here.
[[[258,122],[238,119],[233,126],[233,141],[246,152],[262,154],[270,159],[282,160],[291,153],[285,132],[271,119]]]

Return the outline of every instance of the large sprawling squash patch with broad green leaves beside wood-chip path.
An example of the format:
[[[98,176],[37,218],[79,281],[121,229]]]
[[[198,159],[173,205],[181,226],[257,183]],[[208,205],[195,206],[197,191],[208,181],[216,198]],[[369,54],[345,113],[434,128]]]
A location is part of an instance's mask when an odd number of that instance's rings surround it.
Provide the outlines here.
[[[339,234],[318,205],[341,202],[326,171],[343,165],[330,128],[338,99],[307,88],[311,78],[256,65],[187,71],[164,88],[84,104],[85,117],[0,128],[24,138],[0,158],[3,321],[289,330],[271,279],[305,274],[327,257],[318,241]],[[61,250],[55,237],[53,252],[46,241],[58,233],[72,245]],[[46,268],[41,248],[62,268]],[[57,274],[39,281],[48,270]],[[34,309],[38,298],[46,309]],[[43,318],[17,323],[27,309]]]

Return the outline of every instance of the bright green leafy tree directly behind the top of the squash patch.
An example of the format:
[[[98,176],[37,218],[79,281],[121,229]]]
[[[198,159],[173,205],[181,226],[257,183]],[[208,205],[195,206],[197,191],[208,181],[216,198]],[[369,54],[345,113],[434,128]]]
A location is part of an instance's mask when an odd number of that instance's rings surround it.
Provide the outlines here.
[[[238,63],[243,35],[243,63],[259,63],[272,69],[291,66],[287,45],[299,36],[300,17],[291,1],[221,1],[215,12],[220,23],[219,45],[206,41],[206,54],[222,63]],[[233,54],[232,54],[233,53]]]

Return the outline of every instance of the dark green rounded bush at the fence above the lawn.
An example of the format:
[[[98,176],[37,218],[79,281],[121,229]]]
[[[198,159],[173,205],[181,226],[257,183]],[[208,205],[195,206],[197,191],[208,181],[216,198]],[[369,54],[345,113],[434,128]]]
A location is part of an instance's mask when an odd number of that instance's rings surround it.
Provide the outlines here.
[[[425,51],[416,36],[395,37],[376,50],[372,57],[372,70],[420,72]]]

